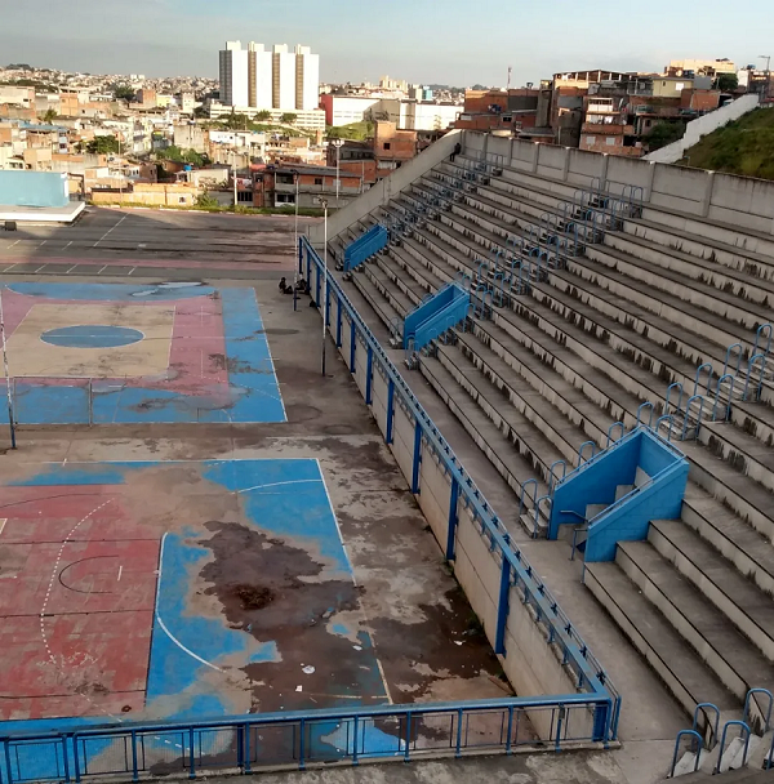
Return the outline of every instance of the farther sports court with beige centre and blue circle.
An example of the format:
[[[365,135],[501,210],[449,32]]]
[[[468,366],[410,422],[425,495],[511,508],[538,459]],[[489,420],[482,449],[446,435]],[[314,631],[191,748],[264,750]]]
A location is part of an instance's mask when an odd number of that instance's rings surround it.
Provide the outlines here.
[[[286,419],[253,289],[11,283],[0,294],[21,424]]]

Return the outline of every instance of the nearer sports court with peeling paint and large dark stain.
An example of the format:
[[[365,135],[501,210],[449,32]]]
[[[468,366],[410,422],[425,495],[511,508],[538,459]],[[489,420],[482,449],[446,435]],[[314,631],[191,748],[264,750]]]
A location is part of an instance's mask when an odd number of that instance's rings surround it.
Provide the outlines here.
[[[15,730],[388,699],[314,459],[27,467],[0,515]]]

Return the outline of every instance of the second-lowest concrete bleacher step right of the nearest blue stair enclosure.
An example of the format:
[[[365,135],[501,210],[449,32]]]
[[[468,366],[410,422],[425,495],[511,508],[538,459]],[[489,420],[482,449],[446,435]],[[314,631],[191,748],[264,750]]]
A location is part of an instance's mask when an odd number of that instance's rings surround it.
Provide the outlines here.
[[[619,542],[616,563],[738,699],[774,688],[774,664],[650,542]]]

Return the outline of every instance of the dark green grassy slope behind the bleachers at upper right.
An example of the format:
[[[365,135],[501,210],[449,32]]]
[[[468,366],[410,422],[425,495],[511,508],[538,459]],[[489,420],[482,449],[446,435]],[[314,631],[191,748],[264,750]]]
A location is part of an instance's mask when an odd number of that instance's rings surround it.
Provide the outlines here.
[[[688,149],[681,166],[774,180],[774,109],[755,109]]]

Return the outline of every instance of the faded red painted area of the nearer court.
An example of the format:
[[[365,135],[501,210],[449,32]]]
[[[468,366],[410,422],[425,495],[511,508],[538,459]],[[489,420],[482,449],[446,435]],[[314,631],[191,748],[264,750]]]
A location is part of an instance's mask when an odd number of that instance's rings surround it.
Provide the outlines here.
[[[118,487],[0,487],[0,719],[142,710],[158,557]]]

